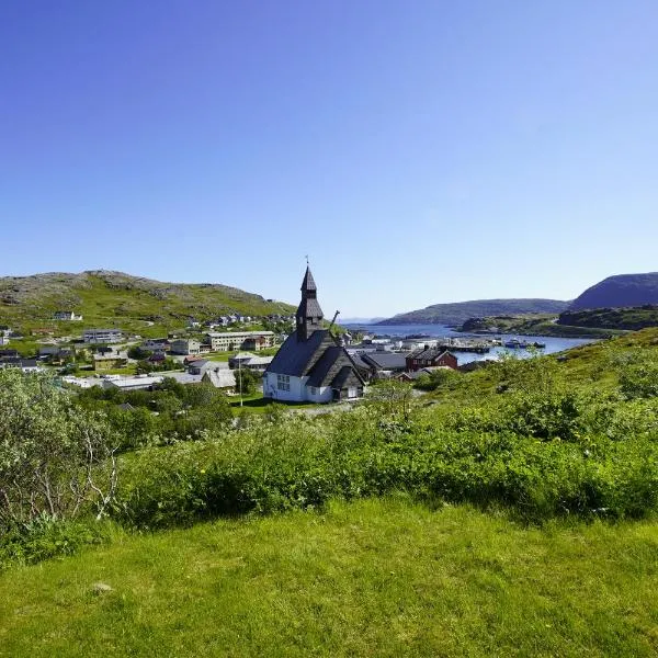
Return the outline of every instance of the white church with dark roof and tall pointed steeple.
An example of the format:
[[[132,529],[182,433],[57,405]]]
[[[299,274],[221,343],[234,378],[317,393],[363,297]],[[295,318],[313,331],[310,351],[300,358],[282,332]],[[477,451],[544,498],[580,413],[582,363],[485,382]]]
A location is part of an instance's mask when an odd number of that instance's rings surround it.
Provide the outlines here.
[[[330,402],[358,399],[365,382],[329,329],[322,329],[317,287],[306,268],[296,330],[288,336],[263,376],[263,396],[274,400]]]

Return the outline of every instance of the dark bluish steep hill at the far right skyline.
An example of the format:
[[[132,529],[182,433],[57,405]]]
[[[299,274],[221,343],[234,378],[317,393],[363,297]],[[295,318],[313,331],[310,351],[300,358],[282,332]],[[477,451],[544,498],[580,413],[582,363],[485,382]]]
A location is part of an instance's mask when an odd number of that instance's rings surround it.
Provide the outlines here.
[[[645,304],[658,304],[658,272],[609,276],[576,297],[569,310]]]

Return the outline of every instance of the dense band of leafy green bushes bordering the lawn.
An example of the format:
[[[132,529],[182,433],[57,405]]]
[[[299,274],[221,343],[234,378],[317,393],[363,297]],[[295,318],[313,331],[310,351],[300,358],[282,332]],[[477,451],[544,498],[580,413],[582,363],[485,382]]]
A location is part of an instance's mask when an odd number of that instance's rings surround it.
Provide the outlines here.
[[[558,402],[566,411],[555,427],[566,435],[577,405]],[[515,427],[534,422],[543,433],[554,402],[529,407]],[[502,503],[529,521],[658,509],[656,431],[626,441],[574,431],[567,442],[522,435],[500,409],[485,409],[478,419],[494,426],[491,419],[502,418],[507,427],[491,432],[442,427],[418,413],[383,421],[379,411],[365,407],[313,421],[288,416],[276,424],[254,419],[205,443],[140,451],[126,460],[127,486],[114,513],[131,525],[161,527],[393,490],[485,508]]]

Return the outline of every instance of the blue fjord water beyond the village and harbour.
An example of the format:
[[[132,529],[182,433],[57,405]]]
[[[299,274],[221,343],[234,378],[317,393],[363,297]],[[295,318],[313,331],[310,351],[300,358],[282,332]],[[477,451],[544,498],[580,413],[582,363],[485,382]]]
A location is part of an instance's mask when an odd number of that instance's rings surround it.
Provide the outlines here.
[[[593,342],[592,339],[588,338],[555,338],[551,336],[520,336],[517,333],[496,333],[496,334],[481,334],[481,333],[464,333],[462,331],[455,331],[444,325],[344,325],[348,330],[362,331],[371,336],[389,336],[392,338],[404,338],[411,334],[422,334],[429,338],[502,338],[503,341],[517,338],[527,342],[541,342],[546,345],[541,351],[542,354],[553,354],[555,352],[563,352],[578,345]],[[421,340],[421,339],[419,339]],[[508,350],[506,348],[491,348],[486,354],[476,354],[475,352],[456,352],[457,363],[463,365],[464,363],[470,363],[472,361],[484,361],[486,359],[498,359],[501,353],[513,352],[519,358],[523,359],[529,356],[532,352],[527,350]]]

